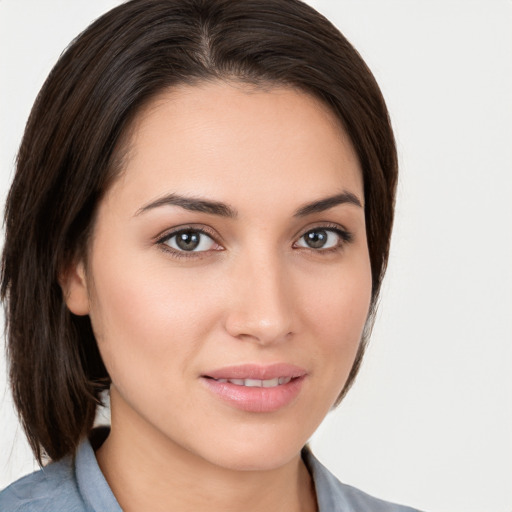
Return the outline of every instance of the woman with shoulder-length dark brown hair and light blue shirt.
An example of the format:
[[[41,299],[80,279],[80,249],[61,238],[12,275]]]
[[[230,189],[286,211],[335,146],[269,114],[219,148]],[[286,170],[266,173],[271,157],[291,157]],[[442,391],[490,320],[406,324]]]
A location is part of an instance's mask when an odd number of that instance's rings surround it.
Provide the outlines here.
[[[6,206],[11,385],[52,463],[2,510],[411,510],[306,447],[364,353],[396,167],[370,71],[299,1],[133,0],[91,25]]]

